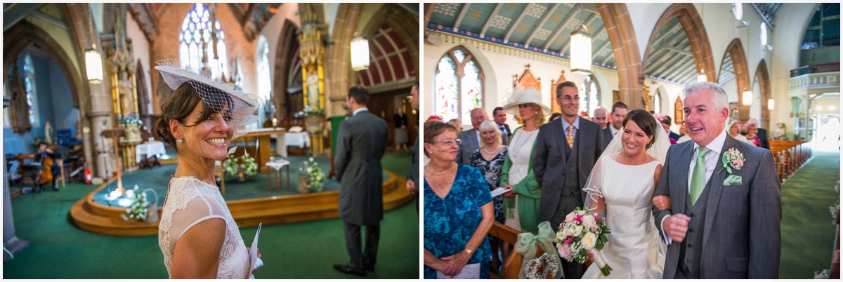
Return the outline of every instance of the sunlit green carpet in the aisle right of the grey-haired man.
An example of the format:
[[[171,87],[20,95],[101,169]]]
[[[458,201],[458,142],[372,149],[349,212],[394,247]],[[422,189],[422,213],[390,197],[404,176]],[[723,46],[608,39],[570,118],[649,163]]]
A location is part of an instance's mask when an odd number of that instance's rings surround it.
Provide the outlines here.
[[[835,244],[829,206],[840,199],[840,153],[817,152],[811,162],[781,184],[780,279],[813,279],[828,269]]]

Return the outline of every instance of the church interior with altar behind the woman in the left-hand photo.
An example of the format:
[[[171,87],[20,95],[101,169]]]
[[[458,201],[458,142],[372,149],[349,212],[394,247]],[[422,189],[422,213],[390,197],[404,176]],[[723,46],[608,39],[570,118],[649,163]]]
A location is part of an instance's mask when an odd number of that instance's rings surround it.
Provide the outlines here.
[[[179,160],[151,128],[173,93],[154,67],[175,59],[260,97],[256,129],[215,165],[246,244],[263,225],[255,277],[356,277],[330,266],[347,259],[331,149],[362,85],[389,125],[381,259],[366,278],[418,278],[405,176],[420,6],[3,3],[3,277],[168,277],[158,215]]]

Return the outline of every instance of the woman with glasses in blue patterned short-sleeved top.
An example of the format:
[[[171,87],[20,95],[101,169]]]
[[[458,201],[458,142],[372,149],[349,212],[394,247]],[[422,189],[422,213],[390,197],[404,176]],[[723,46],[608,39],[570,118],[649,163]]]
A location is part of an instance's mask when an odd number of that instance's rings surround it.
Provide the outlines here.
[[[456,162],[457,129],[438,121],[424,124],[424,279],[437,271],[459,274],[466,264],[480,263],[489,279],[491,247],[486,234],[494,221],[489,186],[476,168]]]

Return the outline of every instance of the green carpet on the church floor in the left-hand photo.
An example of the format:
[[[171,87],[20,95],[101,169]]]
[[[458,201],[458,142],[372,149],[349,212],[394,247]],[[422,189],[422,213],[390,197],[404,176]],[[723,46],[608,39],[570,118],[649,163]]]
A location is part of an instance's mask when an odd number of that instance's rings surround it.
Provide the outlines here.
[[[410,155],[390,154],[384,168],[401,176]],[[68,183],[60,192],[24,194],[12,199],[17,237],[30,247],[3,263],[4,279],[166,279],[157,236],[116,237],[95,234],[69,223],[70,207],[89,194],[93,185]],[[228,187],[227,187],[228,190]],[[256,227],[241,228],[247,246]],[[334,270],[346,263],[345,239],[339,219],[263,226],[260,253],[264,267],[259,279],[356,279]],[[384,212],[375,271],[366,278],[419,277],[419,215],[413,201]]]

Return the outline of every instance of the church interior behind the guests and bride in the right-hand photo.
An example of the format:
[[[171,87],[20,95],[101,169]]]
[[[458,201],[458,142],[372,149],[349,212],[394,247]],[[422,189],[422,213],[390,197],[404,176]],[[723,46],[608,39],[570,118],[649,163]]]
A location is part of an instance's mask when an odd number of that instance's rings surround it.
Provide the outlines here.
[[[570,81],[584,118],[623,102],[685,134],[682,89],[717,82],[729,120],[757,120],[776,156],[779,277],[839,278],[840,3],[426,3],[423,24],[421,117],[463,130],[516,87],[558,113],[554,89]],[[514,242],[504,227],[490,234]],[[513,278],[510,263],[493,274]]]

